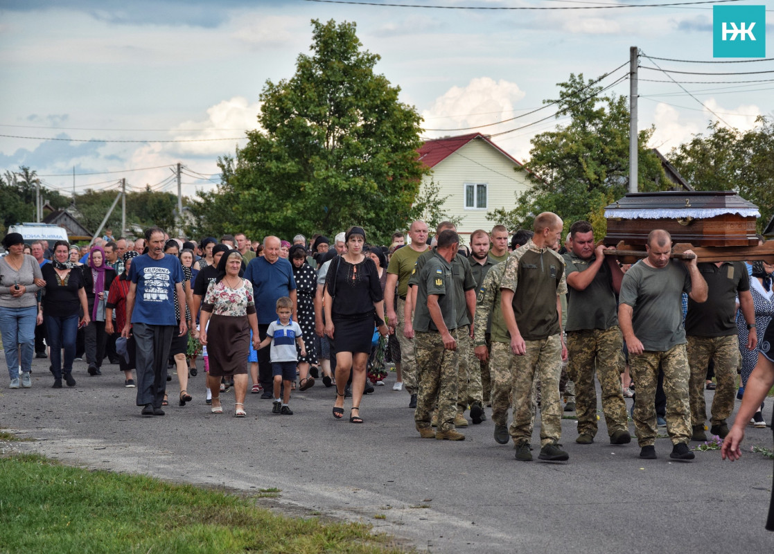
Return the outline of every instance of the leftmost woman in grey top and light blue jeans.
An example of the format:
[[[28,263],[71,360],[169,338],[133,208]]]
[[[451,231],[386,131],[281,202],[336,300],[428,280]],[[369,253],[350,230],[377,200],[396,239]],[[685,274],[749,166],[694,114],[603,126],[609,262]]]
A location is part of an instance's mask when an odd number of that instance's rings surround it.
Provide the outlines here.
[[[46,286],[46,282],[43,281],[36,259],[24,255],[21,234],[6,234],[2,245],[8,254],[0,258],[0,335],[5,347],[5,364],[11,378],[9,388],[19,388],[19,366],[22,369],[21,386],[30,388],[33,386],[29,371],[33,367],[35,326],[43,322],[37,293]]]

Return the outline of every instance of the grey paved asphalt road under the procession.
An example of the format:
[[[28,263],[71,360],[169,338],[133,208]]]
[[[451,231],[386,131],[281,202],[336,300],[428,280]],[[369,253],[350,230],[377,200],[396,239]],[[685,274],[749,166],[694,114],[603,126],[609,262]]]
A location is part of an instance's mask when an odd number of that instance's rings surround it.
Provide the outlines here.
[[[293,394],[293,416],[274,416],[270,400],[248,395],[248,417],[235,419],[232,392],[223,395],[222,416],[210,413],[200,373],[190,381],[192,403],[170,402],[165,417],[142,418],[118,366],[89,377],[76,362],[74,375],[75,388],[52,389],[47,361],[36,360],[33,388],[0,389],[0,426],[36,439],[12,448],[166,480],[279,487],[273,508],[368,522],[423,552],[774,548],[763,528],[772,461],[759,453],[728,463],[718,451],[697,452],[692,463],[672,463],[671,443],[659,439],[658,460],[640,460],[635,443],[610,446],[604,418],[589,446],[574,442],[575,422],[564,419],[570,461],[523,463],[492,439],[491,420],[465,429],[464,442],[420,439],[409,396],[392,391],[394,373],[364,398],[363,425],[335,420],[334,388],[319,381]],[[174,399],[176,378],[170,385]],[[767,404],[768,422],[774,402]],[[537,454],[537,433],[533,445]],[[771,429],[749,427],[745,447],[752,445],[771,448]]]

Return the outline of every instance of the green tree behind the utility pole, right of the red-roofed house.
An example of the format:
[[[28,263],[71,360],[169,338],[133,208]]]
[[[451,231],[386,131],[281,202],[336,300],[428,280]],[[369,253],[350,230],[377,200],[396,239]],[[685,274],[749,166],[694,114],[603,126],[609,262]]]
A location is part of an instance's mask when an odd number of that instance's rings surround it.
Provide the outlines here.
[[[532,228],[534,218],[553,211],[565,227],[584,219],[604,236],[607,222],[604,207],[628,190],[628,99],[602,94],[597,80],[570,74],[559,83],[559,97],[545,100],[557,104],[557,118],[569,116],[567,125],[536,135],[530,159],[519,171],[526,171],[533,187],[516,197],[513,210],[494,210],[490,221],[509,228]],[[646,147],[653,129],[639,132],[639,190],[668,188],[657,156]]]

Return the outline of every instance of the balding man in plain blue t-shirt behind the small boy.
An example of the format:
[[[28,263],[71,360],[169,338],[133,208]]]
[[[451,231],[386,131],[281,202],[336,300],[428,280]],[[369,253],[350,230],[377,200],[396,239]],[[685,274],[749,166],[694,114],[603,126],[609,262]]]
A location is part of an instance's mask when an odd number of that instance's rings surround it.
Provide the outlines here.
[[[258,316],[258,331],[261,340],[268,335],[269,323],[277,319],[275,306],[277,300],[289,296],[293,300],[293,321],[298,320],[296,313],[296,280],[293,279],[293,266],[285,258],[279,257],[280,241],[277,237],[263,240],[263,255],[253,258],[245,271],[245,279],[252,282],[255,296],[255,312]],[[251,374],[255,385],[255,374]],[[269,350],[258,351],[258,375],[263,394],[261,398],[272,398],[272,364]]]

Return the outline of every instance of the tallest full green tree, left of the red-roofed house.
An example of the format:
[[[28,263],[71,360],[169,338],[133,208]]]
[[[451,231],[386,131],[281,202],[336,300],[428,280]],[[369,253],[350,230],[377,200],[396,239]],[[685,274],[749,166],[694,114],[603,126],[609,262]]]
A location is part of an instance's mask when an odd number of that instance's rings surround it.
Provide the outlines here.
[[[375,241],[405,227],[426,172],[420,115],[375,73],[379,56],[363,49],[354,23],[312,28],[293,77],[266,82],[261,129],[235,159],[219,160],[221,194],[201,196],[196,209],[208,210],[203,227],[291,237],[358,224]]]

